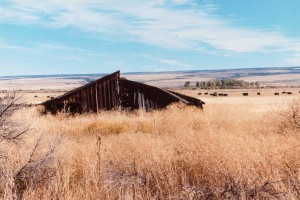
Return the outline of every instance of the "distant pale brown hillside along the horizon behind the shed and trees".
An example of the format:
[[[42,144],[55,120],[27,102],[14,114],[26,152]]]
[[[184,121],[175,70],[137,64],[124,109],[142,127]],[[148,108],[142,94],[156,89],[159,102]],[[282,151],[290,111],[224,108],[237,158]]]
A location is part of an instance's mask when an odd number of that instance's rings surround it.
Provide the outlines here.
[[[129,80],[163,88],[180,88],[183,87],[186,81],[190,81],[191,86],[195,86],[197,81],[213,79],[259,81],[261,86],[276,87],[299,86],[300,83],[299,67],[122,73],[121,75]],[[71,90],[86,84],[88,80],[96,78],[99,78],[99,75],[52,75],[48,77],[25,76],[15,78],[0,76],[0,90],[9,89],[12,86],[22,90]]]

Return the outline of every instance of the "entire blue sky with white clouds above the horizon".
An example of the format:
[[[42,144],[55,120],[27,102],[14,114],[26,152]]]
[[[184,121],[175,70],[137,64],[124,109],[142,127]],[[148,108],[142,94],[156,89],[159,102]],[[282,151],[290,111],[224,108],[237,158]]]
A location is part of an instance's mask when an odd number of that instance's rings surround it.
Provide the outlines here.
[[[300,66],[299,0],[0,0],[0,76]]]

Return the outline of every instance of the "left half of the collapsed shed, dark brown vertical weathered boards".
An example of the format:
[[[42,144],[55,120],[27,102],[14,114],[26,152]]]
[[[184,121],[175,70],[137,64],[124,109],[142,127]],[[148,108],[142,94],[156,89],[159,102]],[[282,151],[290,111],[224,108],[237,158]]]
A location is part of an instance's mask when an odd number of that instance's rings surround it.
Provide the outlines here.
[[[67,92],[42,105],[47,111],[97,112],[111,110],[119,105],[118,80],[120,71],[104,76],[80,88]]]

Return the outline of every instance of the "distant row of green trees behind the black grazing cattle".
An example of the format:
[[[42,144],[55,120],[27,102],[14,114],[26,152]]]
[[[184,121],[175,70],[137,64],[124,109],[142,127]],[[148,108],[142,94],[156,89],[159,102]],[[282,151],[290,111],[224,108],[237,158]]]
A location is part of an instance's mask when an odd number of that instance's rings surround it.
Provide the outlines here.
[[[184,83],[184,87],[190,87],[191,82],[186,81]],[[237,80],[237,79],[221,79],[221,80],[209,80],[209,81],[197,81],[196,87],[201,89],[226,89],[226,88],[259,88],[260,83],[256,82],[247,82],[244,80]]]

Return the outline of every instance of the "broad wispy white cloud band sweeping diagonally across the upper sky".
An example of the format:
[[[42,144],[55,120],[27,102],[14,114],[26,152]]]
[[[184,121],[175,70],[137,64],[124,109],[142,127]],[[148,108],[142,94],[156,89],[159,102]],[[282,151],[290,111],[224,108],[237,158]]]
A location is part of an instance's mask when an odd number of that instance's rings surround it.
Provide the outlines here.
[[[182,5],[185,9],[180,8]],[[209,1],[197,7],[191,0],[12,0],[9,7],[0,7],[0,20],[39,23],[51,28],[75,27],[120,40],[125,37],[162,48],[196,52],[300,52],[294,48],[299,38],[267,29],[238,27],[211,14],[216,9]]]

